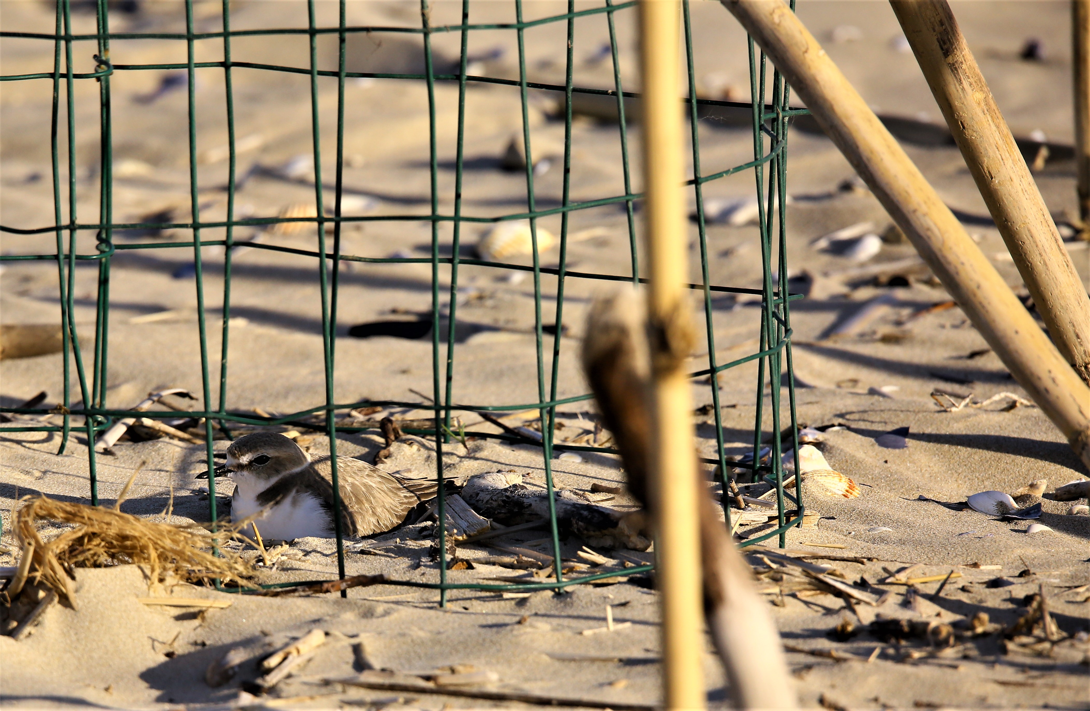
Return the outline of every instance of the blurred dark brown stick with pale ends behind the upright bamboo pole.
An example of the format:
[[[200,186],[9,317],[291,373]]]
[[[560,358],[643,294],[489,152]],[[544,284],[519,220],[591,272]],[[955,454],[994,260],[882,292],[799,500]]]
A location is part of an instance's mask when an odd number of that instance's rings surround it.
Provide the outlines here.
[[[629,492],[657,519],[662,509],[649,491],[647,475],[651,357],[637,293],[620,291],[595,300],[585,333],[583,370],[620,449]],[[690,422],[690,418],[678,421]],[[680,453],[693,451],[692,436],[690,432]],[[695,469],[687,475],[704,486]],[[680,472],[673,483],[679,483],[679,478]],[[738,708],[794,708],[797,701],[787,662],[767,605],[753,589],[750,568],[735,550],[711,497],[705,493],[698,503],[705,618],[726,670],[731,702]]]

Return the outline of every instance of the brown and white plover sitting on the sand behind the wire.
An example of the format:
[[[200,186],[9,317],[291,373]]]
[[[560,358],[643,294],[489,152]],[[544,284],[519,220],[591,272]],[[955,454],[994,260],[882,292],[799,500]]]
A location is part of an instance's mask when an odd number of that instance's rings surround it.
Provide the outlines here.
[[[207,472],[203,474],[206,477]],[[311,460],[292,439],[274,432],[239,437],[216,475],[234,481],[231,520],[254,517],[262,537],[332,538],[334,487],[329,457]],[[341,530],[346,535],[389,531],[421,502],[436,496],[435,480],[390,474],[360,459],[337,458]],[[246,527],[253,533],[252,527]]]

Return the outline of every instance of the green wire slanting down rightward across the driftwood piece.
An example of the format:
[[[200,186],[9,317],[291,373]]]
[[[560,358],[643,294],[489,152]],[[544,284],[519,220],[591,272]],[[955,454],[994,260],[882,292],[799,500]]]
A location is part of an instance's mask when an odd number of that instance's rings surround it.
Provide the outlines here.
[[[514,17],[522,24],[522,0],[514,0]],[[545,347],[542,335],[542,265],[537,252],[537,197],[534,190],[534,158],[530,143],[530,108],[526,86],[525,29],[516,31],[519,43],[519,99],[522,105],[522,147],[526,164],[526,212],[530,213],[530,244],[534,262],[534,345],[537,356],[537,401],[545,402]],[[553,430],[548,408],[540,411],[542,421],[542,456],[545,459],[545,489],[548,494],[548,515],[553,534],[553,563],[557,582],[561,580],[560,538],[556,523],[556,499],[553,491]]]

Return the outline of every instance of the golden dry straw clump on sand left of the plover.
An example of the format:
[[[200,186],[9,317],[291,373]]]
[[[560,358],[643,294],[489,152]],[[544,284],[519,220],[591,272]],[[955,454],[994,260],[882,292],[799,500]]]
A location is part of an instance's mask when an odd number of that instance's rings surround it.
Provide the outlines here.
[[[175,526],[137,518],[109,508],[26,497],[15,515],[20,543],[33,542],[28,581],[45,585],[73,600],[73,568],[135,564],[146,568],[153,586],[168,580],[246,582],[253,568],[237,554],[213,555],[214,545],[234,538],[233,528],[208,531],[196,523]],[[74,528],[44,541],[38,521],[72,523]]]

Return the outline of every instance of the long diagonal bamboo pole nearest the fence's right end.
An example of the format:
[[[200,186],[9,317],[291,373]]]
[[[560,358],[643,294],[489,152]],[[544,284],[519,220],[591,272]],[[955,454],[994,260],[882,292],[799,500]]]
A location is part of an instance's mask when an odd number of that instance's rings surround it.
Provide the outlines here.
[[[908,236],[1033,401],[1090,467],[1090,388],[859,93],[780,0],[722,0]]]

